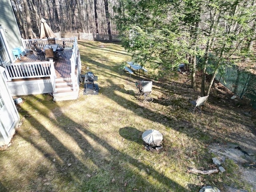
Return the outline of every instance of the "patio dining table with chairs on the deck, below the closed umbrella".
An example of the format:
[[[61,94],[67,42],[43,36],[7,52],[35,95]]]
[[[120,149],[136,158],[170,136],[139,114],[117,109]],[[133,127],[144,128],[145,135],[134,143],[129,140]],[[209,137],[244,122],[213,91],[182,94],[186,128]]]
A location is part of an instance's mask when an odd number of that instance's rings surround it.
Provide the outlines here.
[[[56,60],[64,56],[65,46],[65,41],[63,41],[62,44],[56,44],[55,39],[52,38],[48,39],[48,44],[46,44],[44,48],[41,49],[37,42],[34,42],[30,49],[37,59],[49,61],[50,59]]]

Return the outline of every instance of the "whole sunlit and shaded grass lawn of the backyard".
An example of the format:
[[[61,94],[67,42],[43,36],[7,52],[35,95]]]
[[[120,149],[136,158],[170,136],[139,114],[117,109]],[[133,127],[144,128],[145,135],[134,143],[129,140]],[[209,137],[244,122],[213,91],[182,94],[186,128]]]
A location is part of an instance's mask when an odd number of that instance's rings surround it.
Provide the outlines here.
[[[203,114],[192,114],[188,98],[199,91],[183,84],[188,75],[172,72],[153,80],[153,102],[139,102],[135,82],[155,76],[152,71],[130,78],[119,69],[130,58],[122,46],[78,44],[82,71],[89,67],[98,76],[99,94],[83,95],[81,84],[77,100],[21,96],[22,126],[0,151],[1,192],[195,192],[203,185],[223,190],[225,184],[250,191],[233,161],[225,162],[223,174],[187,172],[212,169],[207,146],[236,143],[232,127],[246,130],[256,122],[235,104],[228,108],[225,93],[213,91]],[[162,150],[145,150],[142,133],[148,129],[163,134]]]

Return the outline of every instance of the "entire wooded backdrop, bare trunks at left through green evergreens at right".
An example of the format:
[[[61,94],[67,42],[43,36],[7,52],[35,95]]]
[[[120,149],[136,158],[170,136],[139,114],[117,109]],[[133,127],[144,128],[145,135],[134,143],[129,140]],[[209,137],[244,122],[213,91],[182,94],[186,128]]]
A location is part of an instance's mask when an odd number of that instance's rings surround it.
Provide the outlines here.
[[[132,60],[166,75],[185,63],[201,95],[231,64],[256,69],[256,0],[11,0],[23,38],[54,32],[119,34]],[[206,84],[206,68],[211,68]]]

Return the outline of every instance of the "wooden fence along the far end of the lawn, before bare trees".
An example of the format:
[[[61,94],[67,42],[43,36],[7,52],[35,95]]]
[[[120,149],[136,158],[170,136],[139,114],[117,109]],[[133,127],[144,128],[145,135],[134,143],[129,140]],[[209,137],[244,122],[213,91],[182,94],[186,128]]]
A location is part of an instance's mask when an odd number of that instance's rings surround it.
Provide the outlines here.
[[[77,38],[79,40],[89,40],[89,41],[110,41],[110,42],[120,42],[121,39],[118,35],[108,35],[108,34],[94,34],[94,33],[54,33],[57,38]]]

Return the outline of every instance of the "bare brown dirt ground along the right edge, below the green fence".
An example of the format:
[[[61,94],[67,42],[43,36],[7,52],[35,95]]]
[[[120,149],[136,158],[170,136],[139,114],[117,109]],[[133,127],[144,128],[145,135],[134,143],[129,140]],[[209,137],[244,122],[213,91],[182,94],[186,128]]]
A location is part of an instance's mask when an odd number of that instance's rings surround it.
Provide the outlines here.
[[[186,82],[188,76],[179,78],[180,83]],[[207,79],[209,80],[210,77]],[[198,77],[200,79],[200,77]],[[200,82],[197,82],[200,84]],[[189,82],[186,83],[189,86]],[[191,93],[193,95],[193,93]],[[209,102],[204,108],[204,113],[213,113],[218,118],[218,124],[212,127],[212,121],[208,121],[208,132],[216,132],[216,138],[208,145],[209,152],[214,153],[221,162],[227,158],[233,160],[239,167],[240,182],[250,183],[252,192],[256,191],[256,110],[246,99],[235,98],[230,90],[221,83],[214,82],[210,92]],[[228,125],[227,125],[228,123]],[[233,186],[225,186],[226,192],[246,192]]]

